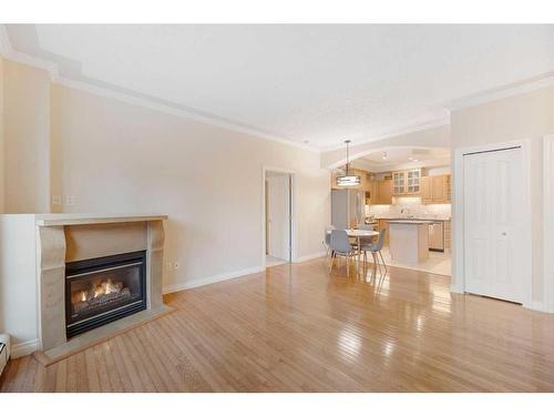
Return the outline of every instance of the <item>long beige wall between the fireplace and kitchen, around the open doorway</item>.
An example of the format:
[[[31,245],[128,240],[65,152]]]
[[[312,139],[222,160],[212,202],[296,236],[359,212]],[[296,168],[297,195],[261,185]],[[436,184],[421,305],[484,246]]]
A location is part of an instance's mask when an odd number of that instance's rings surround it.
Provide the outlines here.
[[[261,266],[263,165],[298,181],[298,255],[321,252],[330,217],[319,154],[52,85],[52,189],[66,212],[170,215],[165,286]]]

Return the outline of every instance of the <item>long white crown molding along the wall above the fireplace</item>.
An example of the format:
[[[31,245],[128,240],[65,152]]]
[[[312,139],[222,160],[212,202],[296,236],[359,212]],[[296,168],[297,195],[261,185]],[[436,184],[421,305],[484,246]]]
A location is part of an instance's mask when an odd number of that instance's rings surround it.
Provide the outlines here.
[[[109,98],[112,100],[117,100],[131,105],[137,105],[148,110],[158,111],[165,114],[171,114],[183,119],[197,121],[204,124],[230,130],[237,133],[245,133],[254,138],[271,141],[275,143],[284,144],[296,149],[307,150],[312,153],[318,153],[318,154],[320,153],[320,150],[314,146],[309,146],[302,143],[296,143],[290,140],[283,139],[266,132],[261,132],[256,129],[250,129],[240,124],[235,124],[230,121],[219,120],[215,116],[212,118],[209,115],[204,115],[195,113],[193,111],[187,111],[177,105],[163,104],[154,99],[138,97],[132,93],[121,92],[113,89],[94,85],[93,83],[90,82],[73,80],[66,77],[62,77],[60,75],[60,70],[55,62],[41,58],[35,58],[30,54],[13,50],[4,24],[0,24],[0,54],[10,61],[14,61],[18,63],[22,63],[29,67],[47,71],[50,74],[51,82],[59,85],[63,85],[73,90],[89,92],[94,95]]]

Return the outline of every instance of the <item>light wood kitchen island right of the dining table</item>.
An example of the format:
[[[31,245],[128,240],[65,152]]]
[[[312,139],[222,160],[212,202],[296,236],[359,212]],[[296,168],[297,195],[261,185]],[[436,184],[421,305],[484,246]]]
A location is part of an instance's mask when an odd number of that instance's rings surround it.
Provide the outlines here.
[[[418,263],[428,258],[429,223],[416,220],[388,221],[391,258],[401,263]]]

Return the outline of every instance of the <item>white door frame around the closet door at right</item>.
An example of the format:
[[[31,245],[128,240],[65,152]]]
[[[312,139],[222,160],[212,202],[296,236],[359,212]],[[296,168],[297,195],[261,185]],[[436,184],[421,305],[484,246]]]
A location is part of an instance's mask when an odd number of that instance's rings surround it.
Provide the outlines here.
[[[490,143],[476,146],[458,148],[453,151],[453,192],[452,192],[452,283],[450,292],[465,293],[465,270],[464,270],[464,197],[463,197],[463,156],[474,152],[494,152],[506,150],[509,148],[521,148],[523,158],[523,187],[526,193],[525,203],[523,205],[523,242],[521,246],[521,255],[523,256],[525,274],[523,278],[523,306],[532,307],[532,290],[533,290],[533,272],[532,272],[532,225],[533,210],[531,203],[531,140],[517,140],[510,142]]]

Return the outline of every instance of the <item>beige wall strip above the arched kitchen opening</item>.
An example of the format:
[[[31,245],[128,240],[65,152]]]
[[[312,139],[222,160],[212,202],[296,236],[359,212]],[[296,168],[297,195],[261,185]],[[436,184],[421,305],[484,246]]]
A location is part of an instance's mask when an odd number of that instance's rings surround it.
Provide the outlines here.
[[[350,146],[350,160],[387,148],[450,148],[450,125],[440,125]],[[321,166],[337,168],[346,163],[346,148],[321,153]]]

